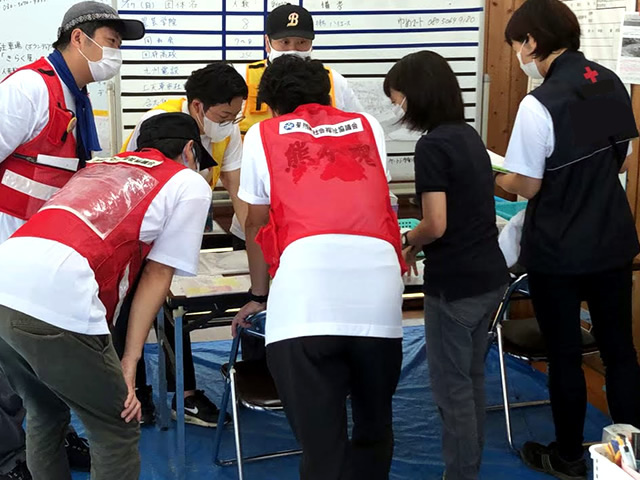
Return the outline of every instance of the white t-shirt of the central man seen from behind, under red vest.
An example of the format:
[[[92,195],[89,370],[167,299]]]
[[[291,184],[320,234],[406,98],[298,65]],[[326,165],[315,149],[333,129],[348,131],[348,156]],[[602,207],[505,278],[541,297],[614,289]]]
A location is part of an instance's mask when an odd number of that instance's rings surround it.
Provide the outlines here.
[[[384,131],[364,115],[387,172]],[[242,165],[238,196],[269,205],[271,183],[259,125],[245,135]],[[266,342],[312,335],[400,338],[403,290],[396,251],[384,240],[356,235],[296,240],[282,253],[271,285]]]

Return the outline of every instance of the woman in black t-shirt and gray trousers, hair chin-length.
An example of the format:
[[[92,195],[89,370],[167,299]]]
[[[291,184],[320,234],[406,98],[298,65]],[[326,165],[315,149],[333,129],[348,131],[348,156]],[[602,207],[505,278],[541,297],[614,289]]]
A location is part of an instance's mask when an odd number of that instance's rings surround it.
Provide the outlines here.
[[[384,91],[416,145],[420,224],[404,255],[425,261],[425,333],[431,387],[443,422],[447,480],[478,478],[484,442],[487,330],[508,283],[498,247],[491,161],[465,123],[462,93],[440,55],[422,51],[389,71]],[[401,109],[401,110],[400,110]]]

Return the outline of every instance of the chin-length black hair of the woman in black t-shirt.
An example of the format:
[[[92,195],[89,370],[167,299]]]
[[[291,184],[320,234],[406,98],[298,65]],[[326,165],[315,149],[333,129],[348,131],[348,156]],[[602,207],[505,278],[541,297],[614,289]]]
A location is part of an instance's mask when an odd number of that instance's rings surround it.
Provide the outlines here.
[[[391,90],[406,98],[407,111],[400,123],[424,132],[443,123],[464,122],[464,103],[458,79],[447,61],[423,50],[398,61],[384,79],[384,93]]]

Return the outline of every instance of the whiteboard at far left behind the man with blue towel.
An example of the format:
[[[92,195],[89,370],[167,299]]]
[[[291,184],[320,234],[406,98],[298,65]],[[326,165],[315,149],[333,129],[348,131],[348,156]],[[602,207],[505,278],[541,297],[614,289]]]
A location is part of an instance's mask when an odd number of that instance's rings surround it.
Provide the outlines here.
[[[49,55],[64,13],[78,0],[0,0],[0,79],[17,68]],[[112,0],[99,0],[109,5]],[[89,85],[102,152],[109,150],[108,82]],[[98,153],[98,152],[96,152]]]

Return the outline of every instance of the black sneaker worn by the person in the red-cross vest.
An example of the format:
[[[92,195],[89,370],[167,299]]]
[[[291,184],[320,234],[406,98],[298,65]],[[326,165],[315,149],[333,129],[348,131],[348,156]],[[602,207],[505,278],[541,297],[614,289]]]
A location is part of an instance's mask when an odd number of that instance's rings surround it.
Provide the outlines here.
[[[560,457],[556,443],[548,446],[527,442],[520,450],[524,464],[562,480],[587,480],[587,462],[583,458],[568,462]]]

